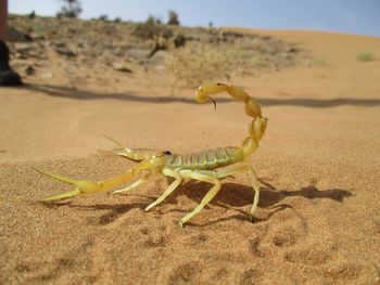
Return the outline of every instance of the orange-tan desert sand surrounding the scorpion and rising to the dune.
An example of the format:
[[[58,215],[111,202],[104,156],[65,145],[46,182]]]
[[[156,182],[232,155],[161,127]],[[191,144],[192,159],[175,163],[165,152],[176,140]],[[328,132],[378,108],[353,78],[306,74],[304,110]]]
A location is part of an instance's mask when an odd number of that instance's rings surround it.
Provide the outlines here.
[[[379,284],[380,39],[314,31],[257,31],[302,44],[325,65],[233,78],[269,118],[251,161],[266,187],[255,222],[245,174],[228,179],[185,229],[178,220],[210,187],[165,190],[154,177],[127,196],[80,196],[30,165],[73,178],[104,179],[134,163],[99,153],[107,134],[130,147],[176,153],[240,144],[242,105],[169,96],[164,73],[84,68],[0,89],[1,284]],[[54,66],[52,65],[52,70]],[[76,67],[73,67],[76,68]],[[79,67],[78,67],[79,68]],[[54,70],[53,70],[54,72]],[[69,70],[67,72],[69,73]]]

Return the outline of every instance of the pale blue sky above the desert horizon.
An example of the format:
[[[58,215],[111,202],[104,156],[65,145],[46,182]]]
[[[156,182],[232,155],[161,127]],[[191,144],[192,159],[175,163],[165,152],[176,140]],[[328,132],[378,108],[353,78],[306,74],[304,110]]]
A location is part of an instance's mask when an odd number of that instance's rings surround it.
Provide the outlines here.
[[[80,0],[81,18],[145,21],[177,12],[186,26],[308,29],[380,37],[380,0]],[[239,3],[239,4],[238,4]],[[10,0],[10,13],[53,16],[59,0]]]

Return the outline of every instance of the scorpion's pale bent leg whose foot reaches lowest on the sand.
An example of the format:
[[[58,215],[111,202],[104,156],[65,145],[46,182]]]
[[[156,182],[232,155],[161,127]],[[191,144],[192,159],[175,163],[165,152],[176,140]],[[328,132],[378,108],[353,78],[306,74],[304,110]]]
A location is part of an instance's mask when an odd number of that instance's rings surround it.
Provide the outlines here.
[[[194,172],[194,171],[183,171],[181,172],[182,177],[191,178],[194,180],[203,181],[203,182],[208,182],[214,184],[212,189],[207,192],[207,194],[202,198],[200,205],[198,205],[191,212],[186,215],[180,221],[179,225],[183,226],[186,222],[188,222],[190,219],[192,219],[195,215],[198,215],[204,206],[206,206],[214,197],[215,195],[219,192],[221,182],[215,178],[214,176],[207,176],[203,174],[200,172]]]

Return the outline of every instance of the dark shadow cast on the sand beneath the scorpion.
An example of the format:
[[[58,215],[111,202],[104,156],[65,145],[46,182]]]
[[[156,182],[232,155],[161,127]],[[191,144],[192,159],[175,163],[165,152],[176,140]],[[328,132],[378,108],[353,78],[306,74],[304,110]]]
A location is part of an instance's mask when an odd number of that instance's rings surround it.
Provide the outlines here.
[[[258,207],[265,209],[271,209],[270,212],[266,213],[265,218],[255,218],[255,222],[263,222],[268,219],[278,211],[293,208],[289,204],[281,203],[287,197],[304,197],[307,199],[333,199],[342,203],[344,198],[352,196],[351,192],[341,189],[328,189],[328,190],[318,190],[315,185],[311,184],[305,187],[301,187],[300,190],[288,191],[288,190],[277,190],[273,184],[261,180],[265,187],[262,187],[259,194]],[[157,205],[154,210],[165,213],[170,211],[176,212],[189,212],[191,209],[179,209],[176,206],[174,209],[164,210],[162,209],[163,204],[172,204],[178,205],[178,198],[180,196],[187,196],[194,203],[199,204],[203,196],[208,192],[210,184],[207,183],[194,183],[188,182],[179,186],[170,196],[168,196],[161,205]],[[161,194],[161,193],[160,193]],[[144,198],[150,199],[147,204],[144,203],[126,203],[126,204],[94,204],[94,205],[76,205],[73,204],[72,200],[60,202],[49,207],[60,207],[60,206],[68,206],[71,208],[84,209],[84,210],[107,210],[107,212],[99,218],[99,224],[107,224],[116,219],[118,219],[124,213],[127,213],[129,210],[139,208],[143,210],[150,203],[154,202],[157,196],[156,195],[138,195]],[[134,195],[130,193],[130,195]],[[242,185],[238,183],[227,182],[223,183],[219,193],[215,196],[215,198],[208,204],[226,209],[233,209],[235,212],[228,217],[220,218],[206,223],[191,223],[189,225],[193,226],[206,226],[213,223],[219,223],[221,221],[227,220],[250,220],[249,209],[243,210],[242,207],[248,207],[252,205],[254,192],[251,186]],[[208,207],[208,206],[206,206]],[[205,208],[206,208],[205,207]]]

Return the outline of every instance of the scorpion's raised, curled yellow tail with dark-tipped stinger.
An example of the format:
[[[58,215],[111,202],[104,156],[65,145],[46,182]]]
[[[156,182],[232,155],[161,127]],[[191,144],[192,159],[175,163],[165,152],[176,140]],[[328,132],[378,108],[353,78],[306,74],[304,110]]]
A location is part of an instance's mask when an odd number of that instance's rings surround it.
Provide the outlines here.
[[[214,82],[203,83],[197,90],[195,101],[199,103],[204,103],[208,100],[214,102],[210,94],[216,94],[220,92],[227,92],[235,100],[244,102],[245,114],[253,118],[252,124],[250,124],[249,137],[241,144],[243,155],[246,157],[258,147],[258,141],[265,133],[268,118],[263,117],[262,108],[254,98],[250,96],[242,89],[233,86]]]

